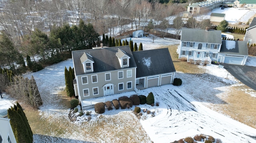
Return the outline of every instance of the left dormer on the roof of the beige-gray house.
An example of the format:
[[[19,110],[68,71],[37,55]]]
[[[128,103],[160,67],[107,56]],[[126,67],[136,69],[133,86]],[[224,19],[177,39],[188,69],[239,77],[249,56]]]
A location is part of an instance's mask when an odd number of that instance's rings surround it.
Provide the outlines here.
[[[80,61],[84,67],[84,72],[93,72],[93,63],[94,60],[92,56],[88,53],[85,53],[80,57]]]

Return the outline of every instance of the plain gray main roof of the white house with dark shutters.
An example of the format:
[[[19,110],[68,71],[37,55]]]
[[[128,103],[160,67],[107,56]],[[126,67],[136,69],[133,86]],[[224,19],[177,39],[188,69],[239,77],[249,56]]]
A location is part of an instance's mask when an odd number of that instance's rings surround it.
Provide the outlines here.
[[[221,31],[182,28],[181,41],[221,44]]]

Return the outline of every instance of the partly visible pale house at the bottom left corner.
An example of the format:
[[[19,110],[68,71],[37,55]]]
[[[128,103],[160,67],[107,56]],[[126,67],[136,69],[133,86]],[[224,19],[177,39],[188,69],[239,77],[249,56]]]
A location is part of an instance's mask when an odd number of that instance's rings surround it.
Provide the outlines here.
[[[0,118],[0,143],[16,143],[10,119]]]

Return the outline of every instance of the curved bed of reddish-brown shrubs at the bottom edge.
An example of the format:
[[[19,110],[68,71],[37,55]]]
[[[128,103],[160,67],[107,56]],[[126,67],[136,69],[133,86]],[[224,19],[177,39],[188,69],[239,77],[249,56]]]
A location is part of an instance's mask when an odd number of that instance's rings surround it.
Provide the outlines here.
[[[204,141],[204,143],[222,143],[220,139],[214,139],[212,136],[206,135],[196,135],[194,139],[192,137],[186,137],[185,139],[180,139],[179,141],[174,141],[172,143],[197,143],[196,141]]]

